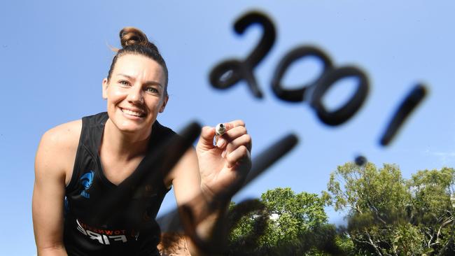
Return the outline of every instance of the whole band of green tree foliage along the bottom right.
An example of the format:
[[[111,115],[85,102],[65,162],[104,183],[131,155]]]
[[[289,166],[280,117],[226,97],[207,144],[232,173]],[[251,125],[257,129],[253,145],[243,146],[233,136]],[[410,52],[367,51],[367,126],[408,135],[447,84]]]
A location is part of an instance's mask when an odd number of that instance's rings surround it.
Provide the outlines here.
[[[347,213],[345,229],[324,207]],[[231,204],[229,255],[455,255],[455,170],[402,178],[395,164],[346,163],[321,195],[276,188]]]

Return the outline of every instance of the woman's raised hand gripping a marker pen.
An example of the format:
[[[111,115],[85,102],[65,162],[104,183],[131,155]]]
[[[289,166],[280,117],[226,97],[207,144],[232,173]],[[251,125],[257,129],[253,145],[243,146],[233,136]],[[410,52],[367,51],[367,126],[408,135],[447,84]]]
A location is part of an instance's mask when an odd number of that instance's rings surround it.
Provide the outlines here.
[[[214,145],[215,127],[202,127],[196,146],[201,189],[206,197],[230,199],[251,169],[251,136],[241,120],[223,123],[225,134]]]

